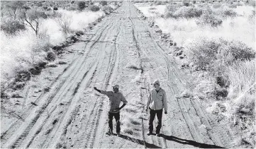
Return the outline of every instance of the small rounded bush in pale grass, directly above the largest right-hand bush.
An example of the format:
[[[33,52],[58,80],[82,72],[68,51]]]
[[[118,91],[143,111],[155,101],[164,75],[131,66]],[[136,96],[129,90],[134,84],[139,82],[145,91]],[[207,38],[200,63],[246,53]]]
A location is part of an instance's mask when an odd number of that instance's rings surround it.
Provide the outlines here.
[[[220,18],[216,18],[211,13],[203,13],[198,20],[196,20],[196,23],[198,25],[211,25],[212,27],[217,27],[222,24],[222,20]]]

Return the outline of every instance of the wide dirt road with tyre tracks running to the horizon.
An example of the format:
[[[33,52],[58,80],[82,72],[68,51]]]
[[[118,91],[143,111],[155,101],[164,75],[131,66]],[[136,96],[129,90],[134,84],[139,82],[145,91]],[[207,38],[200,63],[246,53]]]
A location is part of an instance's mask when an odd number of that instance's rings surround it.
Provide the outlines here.
[[[47,92],[36,97],[36,106],[25,107],[22,119],[12,121],[1,133],[1,148],[231,147],[226,126],[218,126],[199,101],[174,97],[184,90],[187,76],[154,34],[133,4],[124,1],[116,13],[91,30],[90,39],[69,47],[79,49],[80,54],[70,59]],[[143,112],[156,78],[167,93],[169,106],[161,137],[146,135],[148,115]],[[93,90],[94,86],[111,90],[115,83],[121,85],[128,107],[136,109],[123,109],[121,121],[126,113],[145,116],[133,123],[133,133],[121,130],[121,137],[105,135],[107,97]]]

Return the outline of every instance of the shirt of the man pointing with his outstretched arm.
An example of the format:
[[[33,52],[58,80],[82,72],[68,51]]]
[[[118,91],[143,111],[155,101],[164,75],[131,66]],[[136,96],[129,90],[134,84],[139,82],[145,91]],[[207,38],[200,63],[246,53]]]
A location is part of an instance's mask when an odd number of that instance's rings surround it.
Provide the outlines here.
[[[101,90],[101,94],[108,96],[108,112],[116,113],[116,109],[120,106],[120,103],[123,102],[127,104],[126,98],[123,97],[122,93],[114,93],[113,91],[104,91]]]

